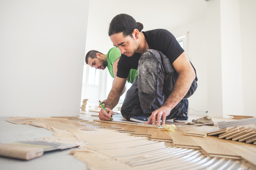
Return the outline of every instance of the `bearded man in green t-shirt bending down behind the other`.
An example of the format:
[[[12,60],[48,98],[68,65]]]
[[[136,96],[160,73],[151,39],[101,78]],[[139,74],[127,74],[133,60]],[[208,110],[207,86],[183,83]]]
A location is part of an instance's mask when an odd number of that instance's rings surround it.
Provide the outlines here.
[[[107,54],[102,54],[99,51],[91,50],[86,54],[85,62],[95,69],[104,70],[108,67],[110,75],[114,78],[112,87],[115,82],[116,72],[117,72],[117,63],[121,56],[120,50],[117,47],[111,48]],[[131,69],[129,76],[127,78],[128,83],[133,83],[137,77],[137,70]],[[121,93],[121,96],[125,92],[125,86]],[[127,96],[126,96],[127,97]],[[106,100],[103,100],[101,103],[105,103]]]

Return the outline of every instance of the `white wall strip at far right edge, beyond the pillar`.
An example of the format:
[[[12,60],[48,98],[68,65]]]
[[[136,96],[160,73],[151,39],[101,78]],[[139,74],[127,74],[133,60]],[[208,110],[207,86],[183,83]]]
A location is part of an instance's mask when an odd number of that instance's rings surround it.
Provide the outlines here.
[[[240,0],[244,115],[256,116],[256,1]]]

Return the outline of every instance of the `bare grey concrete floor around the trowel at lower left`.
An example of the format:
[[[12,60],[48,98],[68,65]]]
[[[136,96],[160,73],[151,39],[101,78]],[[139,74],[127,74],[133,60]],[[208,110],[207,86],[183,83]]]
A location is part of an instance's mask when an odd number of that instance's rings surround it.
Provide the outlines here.
[[[45,136],[53,137],[50,130],[23,124],[13,124],[0,118],[0,142],[9,143],[24,139],[37,139]],[[0,156],[0,169],[48,170],[48,169],[87,169],[86,164],[69,155],[70,149],[44,153],[41,157],[24,161]]]

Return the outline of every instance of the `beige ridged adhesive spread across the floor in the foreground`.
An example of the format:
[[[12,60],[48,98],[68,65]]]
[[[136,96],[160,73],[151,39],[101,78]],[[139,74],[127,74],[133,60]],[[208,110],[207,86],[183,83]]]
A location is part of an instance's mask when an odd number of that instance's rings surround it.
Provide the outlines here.
[[[88,121],[15,117],[7,121],[55,132],[54,138],[43,137],[37,140],[80,145],[77,149],[72,149],[70,154],[85,162],[88,169],[255,168],[244,160],[208,156],[199,149],[177,148],[172,142],[150,140],[148,137],[133,136],[132,133],[119,133],[118,130],[106,129]]]

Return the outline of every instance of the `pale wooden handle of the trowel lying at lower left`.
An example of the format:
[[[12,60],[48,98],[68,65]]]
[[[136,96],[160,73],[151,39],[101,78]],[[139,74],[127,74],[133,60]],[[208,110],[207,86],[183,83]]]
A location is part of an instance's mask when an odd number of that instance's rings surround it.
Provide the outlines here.
[[[41,156],[43,153],[43,148],[15,145],[9,143],[0,143],[1,156],[30,160]]]

